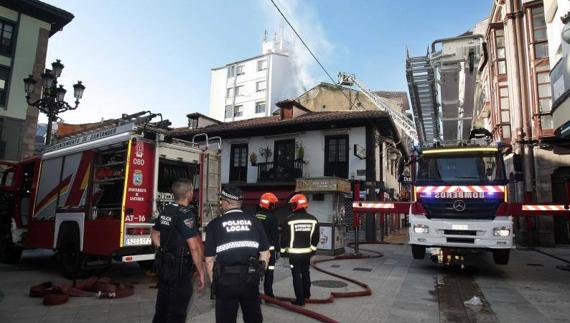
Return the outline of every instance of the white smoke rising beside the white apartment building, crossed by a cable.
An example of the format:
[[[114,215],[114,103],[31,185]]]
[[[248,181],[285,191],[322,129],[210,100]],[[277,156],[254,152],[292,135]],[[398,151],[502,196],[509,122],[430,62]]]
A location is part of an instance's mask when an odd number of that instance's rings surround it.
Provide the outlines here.
[[[333,53],[334,46],[327,38],[317,10],[304,0],[274,1],[293,27],[295,27],[299,35],[301,35],[305,43],[321,63],[325,65],[327,58]],[[283,36],[286,43],[288,43],[289,55],[293,62],[293,72],[296,73],[300,81],[299,84],[297,84],[297,92],[302,93],[320,81],[330,82],[328,76],[326,76],[324,71],[318,66],[318,63],[297,38],[293,30],[287,25],[271,1],[258,0],[258,2],[265,13],[268,29],[274,31],[279,31],[280,29],[284,30]]]

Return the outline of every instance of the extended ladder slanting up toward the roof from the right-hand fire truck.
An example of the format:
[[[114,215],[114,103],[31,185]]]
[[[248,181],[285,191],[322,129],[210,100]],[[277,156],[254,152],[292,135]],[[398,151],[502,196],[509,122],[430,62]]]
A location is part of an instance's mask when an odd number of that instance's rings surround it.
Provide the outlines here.
[[[406,135],[408,135],[412,140],[418,141],[418,133],[416,131],[416,126],[414,122],[410,120],[405,114],[400,111],[392,109],[381,97],[372,92],[368,87],[358,80],[354,74],[339,73],[338,83],[343,86],[357,86],[362,93],[380,110],[388,113],[394,124],[400,128]]]

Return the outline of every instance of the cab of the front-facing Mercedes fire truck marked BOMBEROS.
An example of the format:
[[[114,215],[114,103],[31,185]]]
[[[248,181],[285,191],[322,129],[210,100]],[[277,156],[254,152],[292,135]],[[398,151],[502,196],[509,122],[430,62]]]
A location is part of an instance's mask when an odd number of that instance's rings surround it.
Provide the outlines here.
[[[426,149],[415,158],[410,244],[415,259],[426,249],[434,261],[462,263],[464,255],[493,253],[507,264],[513,247],[508,180],[496,147]]]

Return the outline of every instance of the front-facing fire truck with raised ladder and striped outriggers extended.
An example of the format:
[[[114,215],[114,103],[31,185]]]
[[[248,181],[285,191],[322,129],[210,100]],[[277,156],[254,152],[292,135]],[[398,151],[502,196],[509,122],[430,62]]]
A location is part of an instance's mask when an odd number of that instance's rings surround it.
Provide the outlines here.
[[[408,56],[414,120],[392,109],[353,74],[339,75],[339,84],[358,87],[413,147],[411,158],[407,163],[401,158],[399,167],[411,201],[359,201],[360,185],[355,185],[355,228],[363,212],[407,214],[415,259],[429,251],[436,262],[463,266],[465,255],[491,251],[495,263],[505,265],[514,247],[513,217],[570,215],[569,205],[509,201],[503,149],[490,132],[473,124],[477,69],[486,62],[480,35],[436,40],[427,56]],[[513,168],[522,171],[516,163]],[[570,183],[567,192],[570,199]]]

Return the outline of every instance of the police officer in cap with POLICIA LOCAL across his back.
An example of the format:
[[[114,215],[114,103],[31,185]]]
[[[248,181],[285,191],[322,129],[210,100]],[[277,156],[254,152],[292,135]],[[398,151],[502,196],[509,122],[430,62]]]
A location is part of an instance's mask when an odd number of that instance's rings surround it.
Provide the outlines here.
[[[259,279],[269,260],[269,242],[256,218],[240,209],[241,200],[239,188],[226,186],[220,193],[223,215],[206,228],[206,267],[218,323],[236,322],[240,305],[244,322],[263,321]]]

